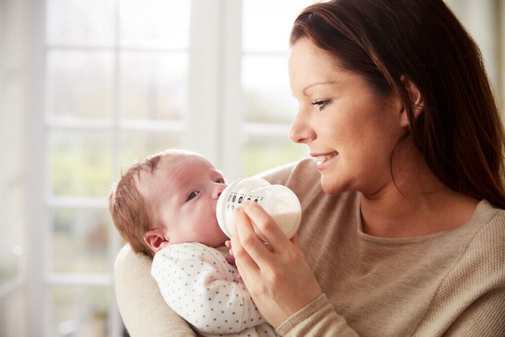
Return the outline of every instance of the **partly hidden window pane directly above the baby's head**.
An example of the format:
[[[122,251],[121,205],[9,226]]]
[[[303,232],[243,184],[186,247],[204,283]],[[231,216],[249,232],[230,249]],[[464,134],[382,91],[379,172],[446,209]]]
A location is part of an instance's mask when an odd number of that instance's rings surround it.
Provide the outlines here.
[[[159,151],[180,146],[180,134],[151,131],[121,132],[121,167],[126,169],[134,161],[144,159]]]

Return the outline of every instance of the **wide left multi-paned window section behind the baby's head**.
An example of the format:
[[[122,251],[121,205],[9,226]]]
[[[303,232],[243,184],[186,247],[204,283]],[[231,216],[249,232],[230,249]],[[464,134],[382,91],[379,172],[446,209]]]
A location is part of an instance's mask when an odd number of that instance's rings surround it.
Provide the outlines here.
[[[181,145],[190,5],[45,2],[46,335],[122,333],[111,286],[122,242],[106,199],[133,160]]]

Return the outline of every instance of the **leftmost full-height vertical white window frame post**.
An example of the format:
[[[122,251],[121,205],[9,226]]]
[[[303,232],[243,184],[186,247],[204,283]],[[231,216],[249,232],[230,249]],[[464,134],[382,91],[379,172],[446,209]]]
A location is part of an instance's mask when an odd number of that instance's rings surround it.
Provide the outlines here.
[[[31,0],[29,3],[31,26],[30,43],[27,46],[30,55],[29,63],[29,125],[26,167],[28,168],[28,183],[26,195],[28,196],[28,271],[30,277],[28,284],[28,303],[30,315],[30,335],[45,335],[48,331],[46,322],[50,313],[41,308],[47,305],[47,274],[46,260],[48,257],[47,231],[48,214],[45,207],[45,187],[47,185],[46,140],[47,129],[44,127],[44,92],[45,92],[45,1]]]

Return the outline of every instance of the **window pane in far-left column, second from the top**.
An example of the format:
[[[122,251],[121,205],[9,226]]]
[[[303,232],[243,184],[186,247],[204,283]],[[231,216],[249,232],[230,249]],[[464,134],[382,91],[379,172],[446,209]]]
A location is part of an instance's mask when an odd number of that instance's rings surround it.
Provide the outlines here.
[[[58,118],[107,118],[112,111],[109,52],[47,54],[47,113]]]

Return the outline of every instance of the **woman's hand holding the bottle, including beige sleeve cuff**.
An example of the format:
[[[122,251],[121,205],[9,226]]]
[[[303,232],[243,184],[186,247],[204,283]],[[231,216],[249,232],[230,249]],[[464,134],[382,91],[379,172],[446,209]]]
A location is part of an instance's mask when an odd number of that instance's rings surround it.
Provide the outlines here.
[[[236,234],[231,238],[237,268],[263,317],[281,335],[356,336],[336,314],[301,251],[297,235],[291,240],[255,203],[235,210]],[[268,240],[263,245],[253,221]]]

